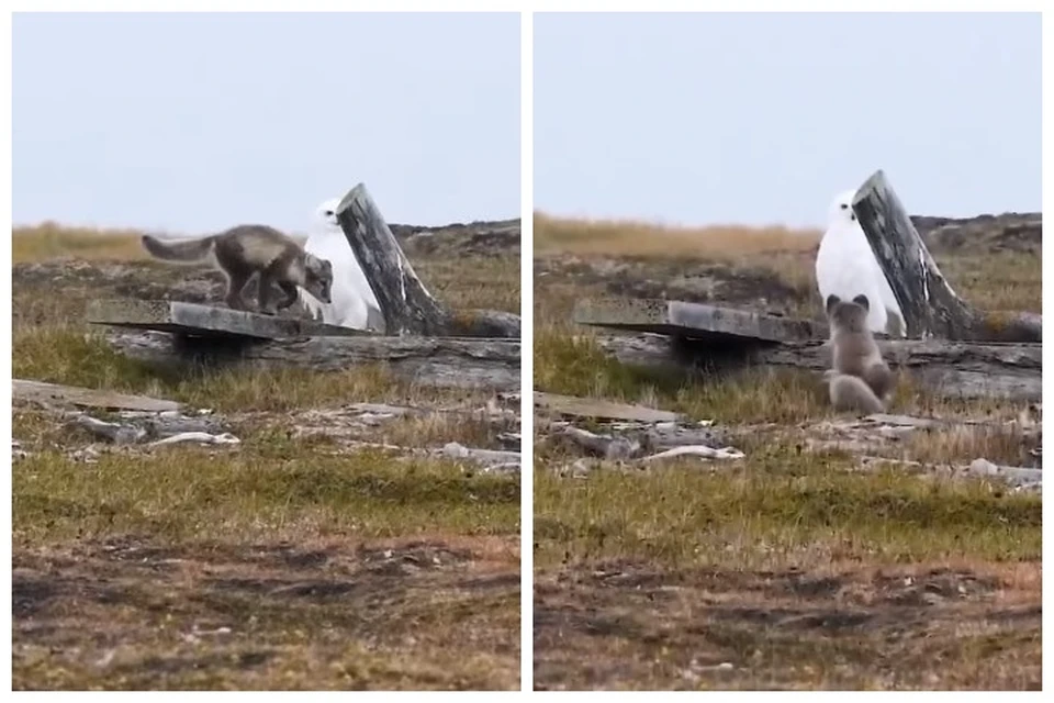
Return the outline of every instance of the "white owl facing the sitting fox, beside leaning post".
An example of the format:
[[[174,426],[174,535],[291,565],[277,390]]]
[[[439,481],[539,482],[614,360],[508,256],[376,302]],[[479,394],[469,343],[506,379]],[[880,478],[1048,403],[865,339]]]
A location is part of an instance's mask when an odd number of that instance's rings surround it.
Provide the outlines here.
[[[816,282],[820,299],[834,294],[842,300],[864,294],[871,302],[867,326],[872,332],[887,332],[890,315],[897,320],[890,331],[904,336],[904,313],[889,281],[875,259],[875,253],[853,212],[854,190],[840,193],[828,211],[827,232],[816,255]]]

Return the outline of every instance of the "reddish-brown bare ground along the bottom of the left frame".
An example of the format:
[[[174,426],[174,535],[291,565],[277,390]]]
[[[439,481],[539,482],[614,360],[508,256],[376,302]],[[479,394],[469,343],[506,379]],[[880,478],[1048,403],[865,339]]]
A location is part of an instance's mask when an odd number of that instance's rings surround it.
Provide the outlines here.
[[[515,538],[476,542],[20,549],[14,687],[509,688]]]

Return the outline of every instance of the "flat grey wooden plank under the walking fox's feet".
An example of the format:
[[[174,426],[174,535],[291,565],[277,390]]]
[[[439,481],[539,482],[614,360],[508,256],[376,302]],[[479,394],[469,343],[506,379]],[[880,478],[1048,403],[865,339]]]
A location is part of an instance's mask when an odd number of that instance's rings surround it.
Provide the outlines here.
[[[92,324],[198,337],[283,339],[371,334],[311,320],[168,300],[93,300],[88,303],[87,316]]]

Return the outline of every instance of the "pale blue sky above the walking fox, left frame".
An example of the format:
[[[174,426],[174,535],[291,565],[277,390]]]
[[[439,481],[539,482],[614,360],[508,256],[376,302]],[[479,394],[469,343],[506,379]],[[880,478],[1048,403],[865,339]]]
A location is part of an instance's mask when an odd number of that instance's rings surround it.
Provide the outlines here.
[[[16,13],[13,220],[306,231],[520,213],[519,15]]]

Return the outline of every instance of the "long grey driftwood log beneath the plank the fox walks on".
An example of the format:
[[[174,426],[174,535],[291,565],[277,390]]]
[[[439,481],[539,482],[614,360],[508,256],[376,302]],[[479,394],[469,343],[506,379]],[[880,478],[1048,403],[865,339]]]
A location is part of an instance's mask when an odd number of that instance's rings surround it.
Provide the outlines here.
[[[520,384],[519,339],[345,335],[246,343],[121,328],[106,336],[124,355],[161,367],[249,364],[341,371],[380,362],[395,378],[425,386],[507,391]]]

